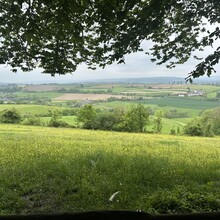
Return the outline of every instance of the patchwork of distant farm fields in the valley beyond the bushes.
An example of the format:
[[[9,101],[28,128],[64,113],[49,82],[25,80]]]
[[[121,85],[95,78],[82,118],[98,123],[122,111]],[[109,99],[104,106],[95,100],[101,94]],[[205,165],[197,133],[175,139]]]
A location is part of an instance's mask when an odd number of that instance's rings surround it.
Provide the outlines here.
[[[76,112],[88,103],[98,112],[111,112],[116,108],[128,110],[131,106],[143,104],[150,108],[151,119],[156,111],[163,112],[161,132],[164,134],[169,134],[171,129],[181,131],[192,118],[208,109],[220,107],[219,85],[43,84],[3,86],[0,91],[0,112],[15,108],[22,117],[40,116],[43,122],[48,122],[48,116],[53,111],[69,109],[75,111],[75,116],[64,114],[62,120],[70,126],[76,126]],[[196,94],[198,91],[202,91],[203,95],[187,96],[189,92]],[[171,111],[176,111],[177,115],[173,117],[172,113],[169,114]],[[173,118],[166,116],[167,114]],[[152,128],[151,123],[146,130],[152,132]]]

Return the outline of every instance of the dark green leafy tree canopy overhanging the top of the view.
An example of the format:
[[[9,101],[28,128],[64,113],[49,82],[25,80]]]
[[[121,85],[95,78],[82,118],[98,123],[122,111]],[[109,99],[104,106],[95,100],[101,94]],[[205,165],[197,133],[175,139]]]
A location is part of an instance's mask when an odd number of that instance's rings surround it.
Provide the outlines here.
[[[123,63],[151,40],[145,52],[172,68],[219,41],[205,23],[220,23],[219,0],[0,0],[0,64],[54,76]],[[219,59],[218,46],[188,79],[210,76]]]

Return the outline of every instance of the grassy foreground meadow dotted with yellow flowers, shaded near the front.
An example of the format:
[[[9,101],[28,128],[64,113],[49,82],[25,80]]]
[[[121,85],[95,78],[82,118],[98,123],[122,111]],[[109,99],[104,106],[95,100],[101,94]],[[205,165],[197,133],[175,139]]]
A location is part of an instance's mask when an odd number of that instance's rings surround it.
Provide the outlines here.
[[[219,137],[3,124],[0,131],[0,214],[220,210]]]

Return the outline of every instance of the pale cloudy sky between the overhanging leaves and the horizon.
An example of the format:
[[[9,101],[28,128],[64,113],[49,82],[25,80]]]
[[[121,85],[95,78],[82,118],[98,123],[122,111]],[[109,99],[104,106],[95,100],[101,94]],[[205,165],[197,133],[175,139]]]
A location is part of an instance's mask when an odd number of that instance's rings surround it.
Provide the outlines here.
[[[205,50],[204,55],[211,52]],[[198,55],[198,54],[197,54]],[[72,74],[56,75],[42,74],[42,69],[35,69],[31,72],[13,73],[10,67],[0,65],[0,83],[74,83],[94,79],[110,78],[140,78],[140,77],[181,77],[186,78],[187,74],[194,69],[197,60],[189,60],[185,64],[177,65],[174,69],[167,69],[165,65],[156,65],[150,61],[150,56],[144,52],[133,53],[125,56],[126,64],[112,64],[105,69],[98,68],[89,70],[85,65],[80,65]],[[220,65],[216,66],[217,73],[212,76],[220,76]]]

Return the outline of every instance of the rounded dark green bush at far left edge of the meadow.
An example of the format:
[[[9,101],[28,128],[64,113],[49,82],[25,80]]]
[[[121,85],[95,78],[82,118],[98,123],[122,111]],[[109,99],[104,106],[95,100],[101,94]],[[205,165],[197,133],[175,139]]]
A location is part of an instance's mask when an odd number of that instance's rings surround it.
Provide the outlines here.
[[[17,124],[21,121],[21,114],[16,110],[13,109],[5,109],[0,116],[0,121],[2,123],[10,123],[10,124]]]

